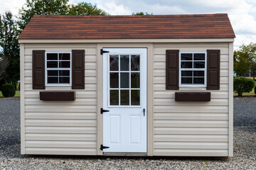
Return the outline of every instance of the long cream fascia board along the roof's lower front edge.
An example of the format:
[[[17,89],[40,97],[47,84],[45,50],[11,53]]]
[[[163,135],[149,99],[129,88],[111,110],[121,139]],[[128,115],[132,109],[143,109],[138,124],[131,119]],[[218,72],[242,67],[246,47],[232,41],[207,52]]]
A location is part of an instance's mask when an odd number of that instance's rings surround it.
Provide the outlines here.
[[[65,39],[65,40],[18,40],[19,43],[154,43],[154,42],[234,42],[235,38],[189,38],[189,39]]]

